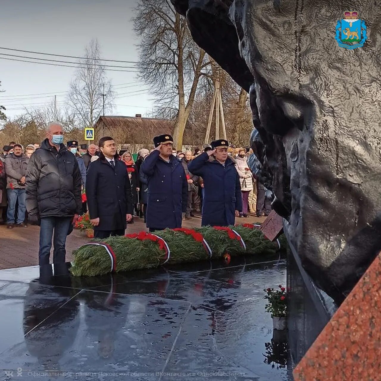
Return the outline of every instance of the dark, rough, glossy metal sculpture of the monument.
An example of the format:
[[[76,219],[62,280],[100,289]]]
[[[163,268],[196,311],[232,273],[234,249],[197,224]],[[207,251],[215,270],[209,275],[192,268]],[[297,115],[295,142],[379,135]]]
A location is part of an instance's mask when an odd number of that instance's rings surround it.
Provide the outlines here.
[[[250,92],[256,170],[303,266],[343,299],[381,250],[379,2],[171,1]],[[368,38],[348,50],[335,28],[354,9]]]

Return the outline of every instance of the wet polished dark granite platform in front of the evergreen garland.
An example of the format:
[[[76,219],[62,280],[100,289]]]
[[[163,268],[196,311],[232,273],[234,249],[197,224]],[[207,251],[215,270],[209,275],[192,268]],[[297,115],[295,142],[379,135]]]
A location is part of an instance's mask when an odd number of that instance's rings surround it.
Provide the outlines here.
[[[286,263],[255,258],[95,278],[2,270],[0,380],[291,380],[263,299]]]

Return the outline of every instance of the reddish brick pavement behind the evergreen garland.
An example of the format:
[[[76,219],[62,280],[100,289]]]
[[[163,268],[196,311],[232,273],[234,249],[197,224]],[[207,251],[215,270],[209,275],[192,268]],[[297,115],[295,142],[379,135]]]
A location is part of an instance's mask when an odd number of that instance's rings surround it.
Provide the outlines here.
[[[263,222],[265,217],[257,218],[249,215],[249,218],[236,218],[236,223]],[[201,226],[201,216],[196,216],[193,220],[183,221],[183,227],[194,228]],[[128,233],[147,231],[143,219],[134,218],[134,224],[127,226]],[[38,265],[38,239],[40,227],[29,226],[27,228],[6,229],[0,225],[0,269],[11,269],[14,267]],[[88,242],[84,232],[74,230],[67,237],[66,259],[72,261],[71,253],[76,248]],[[53,258],[53,249],[50,259]]]

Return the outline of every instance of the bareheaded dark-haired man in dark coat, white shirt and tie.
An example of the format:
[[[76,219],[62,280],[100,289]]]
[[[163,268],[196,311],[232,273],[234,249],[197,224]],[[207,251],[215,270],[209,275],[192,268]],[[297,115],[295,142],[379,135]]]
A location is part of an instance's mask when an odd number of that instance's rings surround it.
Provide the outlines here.
[[[86,176],[86,197],[95,238],[124,235],[131,221],[133,205],[126,166],[118,160],[114,139],[99,140],[99,160],[90,163]]]

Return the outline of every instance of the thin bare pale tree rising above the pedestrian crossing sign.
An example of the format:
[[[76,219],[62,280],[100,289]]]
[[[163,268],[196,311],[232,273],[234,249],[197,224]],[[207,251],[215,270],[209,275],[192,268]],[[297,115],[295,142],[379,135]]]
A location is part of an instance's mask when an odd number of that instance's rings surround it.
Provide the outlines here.
[[[85,48],[85,59],[78,61],[80,66],[70,83],[67,101],[73,109],[77,123],[82,127],[93,127],[104,107],[112,109],[114,93],[101,58],[98,40],[93,39]],[[104,95],[103,95],[104,94]]]

